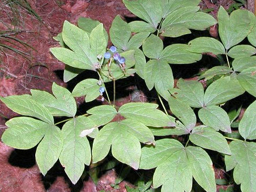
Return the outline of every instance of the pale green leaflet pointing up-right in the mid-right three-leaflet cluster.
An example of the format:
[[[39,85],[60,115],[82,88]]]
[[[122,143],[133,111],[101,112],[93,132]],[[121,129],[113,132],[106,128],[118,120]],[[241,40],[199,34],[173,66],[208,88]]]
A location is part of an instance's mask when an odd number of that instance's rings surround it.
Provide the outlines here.
[[[207,87],[204,94],[204,105],[218,105],[244,92],[245,90],[235,77],[222,77]]]

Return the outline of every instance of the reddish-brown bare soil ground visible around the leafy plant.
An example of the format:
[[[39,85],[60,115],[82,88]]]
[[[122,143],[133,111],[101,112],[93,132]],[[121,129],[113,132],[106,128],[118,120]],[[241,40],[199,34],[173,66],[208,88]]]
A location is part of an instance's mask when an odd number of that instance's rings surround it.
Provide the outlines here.
[[[65,65],[55,59],[49,51],[50,47],[59,46],[52,37],[61,32],[65,20],[76,24],[79,17],[89,17],[102,22],[108,31],[117,14],[121,15],[123,19],[134,17],[125,8],[122,0],[28,0],[28,2],[42,20],[20,10],[20,24],[17,28],[22,32],[15,34],[15,37],[28,43],[33,49],[22,44],[15,43],[13,45],[5,42],[7,45],[25,52],[27,58],[12,51],[0,53],[0,96],[2,97],[29,94],[30,89],[51,92],[53,82],[67,86],[62,81]],[[212,8],[213,11],[210,13],[216,17],[220,5],[227,8],[232,3],[234,3],[233,0],[218,0],[215,4],[210,0],[203,0],[200,6],[201,9]],[[0,10],[0,18],[3,18],[3,21],[11,26],[10,10],[5,8]],[[7,26],[0,22],[0,30],[7,29]],[[211,27],[210,34],[213,37],[218,37],[218,27]],[[137,87],[128,86],[126,89],[129,94],[117,100],[119,106],[130,101],[152,100],[152,98],[147,98],[145,93],[138,90]],[[82,102],[83,98],[77,99],[78,104]],[[18,114],[8,109],[2,102],[0,102],[0,109],[1,137],[7,128],[4,124],[6,119]],[[119,118],[122,117],[116,117],[116,119]],[[0,142],[0,191],[126,191],[125,185],[133,187],[131,183],[123,181],[119,185],[120,189],[114,190],[110,186],[117,177],[114,170],[102,175],[98,185],[95,185],[89,178],[79,181],[80,183],[78,182],[74,186],[71,185],[63,170],[60,171],[58,163],[53,170],[50,170],[50,174],[43,177],[35,164],[34,156],[35,149],[14,150]],[[13,161],[13,159],[16,160]],[[25,166],[25,164],[27,165]],[[218,172],[220,173],[220,170],[216,171],[216,178],[225,177],[225,174],[217,174]]]

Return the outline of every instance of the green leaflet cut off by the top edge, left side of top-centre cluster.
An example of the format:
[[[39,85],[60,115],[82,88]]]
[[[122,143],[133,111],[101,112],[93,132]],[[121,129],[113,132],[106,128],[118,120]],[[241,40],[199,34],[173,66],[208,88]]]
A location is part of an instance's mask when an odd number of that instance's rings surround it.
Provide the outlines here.
[[[154,0],[123,0],[123,3],[133,14],[150,23],[152,27],[157,28],[163,14],[161,2]]]

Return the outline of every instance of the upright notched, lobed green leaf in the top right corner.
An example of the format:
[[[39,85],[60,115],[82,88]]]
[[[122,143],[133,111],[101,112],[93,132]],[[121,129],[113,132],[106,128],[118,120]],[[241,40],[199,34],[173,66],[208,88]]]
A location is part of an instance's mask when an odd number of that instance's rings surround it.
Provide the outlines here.
[[[240,43],[252,30],[255,17],[247,10],[235,10],[230,14],[220,6],[218,12],[219,34],[226,50]]]

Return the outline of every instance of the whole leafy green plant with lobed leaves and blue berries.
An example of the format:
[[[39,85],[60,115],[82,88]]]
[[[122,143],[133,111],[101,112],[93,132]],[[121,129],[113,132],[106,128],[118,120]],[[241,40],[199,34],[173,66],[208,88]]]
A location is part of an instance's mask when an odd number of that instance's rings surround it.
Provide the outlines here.
[[[125,58],[125,65],[121,65],[119,57],[114,59],[112,53],[105,57],[107,59],[103,58],[108,35],[102,23],[80,18],[76,27],[65,21],[62,33],[55,37],[61,47],[51,48],[52,54],[66,64],[65,82],[84,70],[91,70],[99,78],[84,79],[71,93],[53,83],[53,95],[31,90],[31,95],[1,98],[13,111],[30,116],[7,121],[9,129],[4,132],[2,141],[19,149],[29,149],[39,143],[36,162],[41,172],[45,175],[60,159],[69,179],[76,183],[85,165],[91,163],[88,136],[93,138],[92,163],[104,159],[111,147],[112,155],[119,162],[135,170],[156,168],[154,188],[162,186],[162,191],[178,192],[191,191],[193,178],[204,190],[216,191],[213,163],[205,150],[210,149],[225,156],[226,170],[234,169],[234,181],[241,184],[243,192],[256,191],[256,143],[253,142],[256,139],[256,101],[249,103],[238,125],[244,140],[225,136],[232,132],[230,124],[241,110],[234,109],[237,106],[230,100],[245,91],[256,97],[256,57],[251,56],[256,53],[255,16],[247,10],[236,10],[229,16],[220,7],[221,42],[198,37],[188,44],[164,47],[159,36],[179,37],[190,34],[190,29],[204,30],[217,21],[207,13],[198,12],[198,0],[123,2],[127,9],[144,20],[126,23],[117,16],[111,25],[110,39],[117,48],[111,50]],[[136,34],[131,36],[132,32]],[[251,45],[239,44],[246,37]],[[142,50],[139,49],[141,45]],[[227,61],[199,77],[214,78],[207,89],[204,90],[199,81],[182,78],[174,87],[171,66],[197,62],[205,52],[218,54],[218,57],[223,55]],[[164,112],[157,109],[155,103],[130,102],[116,108],[116,81],[134,73],[145,79],[149,90],[155,87]],[[111,83],[113,102],[105,86]],[[92,107],[87,114],[75,116],[74,97],[83,95],[85,102],[106,97],[109,105]],[[168,102],[171,115],[162,98]],[[224,108],[225,103],[232,105],[230,110]],[[111,122],[116,115],[125,119]],[[71,118],[55,123],[53,116]],[[60,130],[58,125],[63,122]],[[155,136],[167,135],[182,135],[180,138],[184,142],[167,137],[155,140]],[[227,139],[233,141],[228,144]],[[140,185],[143,187],[145,182]],[[149,188],[148,184],[144,187],[138,190]]]

